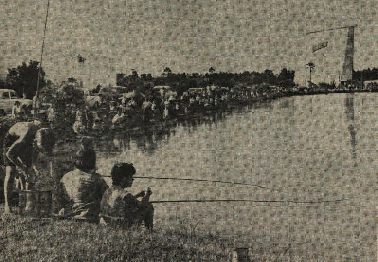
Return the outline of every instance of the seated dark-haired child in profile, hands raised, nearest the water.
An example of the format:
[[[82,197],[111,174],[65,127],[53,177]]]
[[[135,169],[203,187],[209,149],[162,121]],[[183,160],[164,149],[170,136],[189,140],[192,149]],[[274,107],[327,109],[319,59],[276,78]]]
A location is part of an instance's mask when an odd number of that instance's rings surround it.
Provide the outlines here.
[[[154,208],[149,202],[152,191],[147,188],[145,192],[132,195],[124,188],[133,184],[135,168],[133,164],[116,162],[111,170],[112,186],[102,197],[100,208],[100,224],[123,226],[140,226],[145,222],[146,231],[152,232]],[[141,201],[138,197],[143,197]]]

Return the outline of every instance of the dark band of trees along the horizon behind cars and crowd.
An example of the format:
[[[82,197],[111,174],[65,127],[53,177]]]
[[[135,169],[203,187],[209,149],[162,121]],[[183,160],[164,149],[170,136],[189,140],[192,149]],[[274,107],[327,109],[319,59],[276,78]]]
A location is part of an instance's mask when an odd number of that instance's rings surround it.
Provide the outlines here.
[[[308,67],[309,68],[309,67]],[[21,97],[23,94],[27,98],[33,98],[35,89],[37,88],[37,75],[39,63],[38,61],[30,60],[28,63],[25,61],[17,67],[8,68],[8,74],[5,82],[0,81],[0,88],[13,89]],[[311,72],[310,72],[311,73]],[[251,86],[259,91],[268,89],[269,86],[278,86],[289,88],[295,86],[294,83],[294,70],[283,68],[278,74],[274,74],[272,70],[266,69],[263,72],[245,71],[243,73],[229,73],[217,72],[214,67],[210,67],[205,74],[201,73],[173,73],[169,67],[166,67],[163,72],[156,77],[151,74],[138,74],[132,70],[130,74],[116,74],[116,81],[118,86],[129,87],[131,90],[140,91],[143,93],[148,92],[150,88],[156,85],[171,86],[177,92],[183,92],[189,88],[205,87],[207,85],[217,85],[229,88],[243,88]],[[76,83],[74,78],[68,78],[57,83],[45,78],[46,73],[41,70],[40,86],[42,93],[51,93],[64,86],[67,83]],[[354,80],[377,80],[378,69],[363,69],[353,71]],[[334,82],[319,83],[319,86],[335,86]],[[98,92],[102,85],[98,84],[92,92]]]

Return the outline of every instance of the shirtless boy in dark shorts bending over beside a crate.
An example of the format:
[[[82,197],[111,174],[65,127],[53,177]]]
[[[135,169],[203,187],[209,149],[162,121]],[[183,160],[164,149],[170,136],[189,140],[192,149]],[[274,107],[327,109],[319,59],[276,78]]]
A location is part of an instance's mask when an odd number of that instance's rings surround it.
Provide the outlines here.
[[[23,173],[22,186],[29,189],[32,185],[33,173],[39,173],[35,162],[39,152],[51,153],[56,136],[52,130],[41,128],[30,122],[19,122],[13,125],[4,137],[3,153],[6,167],[4,179],[4,213],[11,213],[11,196],[16,169]]]

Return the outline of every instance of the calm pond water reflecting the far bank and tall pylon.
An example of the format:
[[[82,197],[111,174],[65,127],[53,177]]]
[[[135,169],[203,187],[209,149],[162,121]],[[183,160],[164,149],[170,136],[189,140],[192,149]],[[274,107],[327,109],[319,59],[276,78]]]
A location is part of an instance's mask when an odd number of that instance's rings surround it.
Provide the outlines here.
[[[281,98],[114,137],[95,145],[99,173],[132,162],[139,176],[199,178],[268,186],[135,179],[153,200],[253,199],[295,203],[157,203],[156,221],[185,221],[220,234],[326,260],[376,261],[378,94]]]

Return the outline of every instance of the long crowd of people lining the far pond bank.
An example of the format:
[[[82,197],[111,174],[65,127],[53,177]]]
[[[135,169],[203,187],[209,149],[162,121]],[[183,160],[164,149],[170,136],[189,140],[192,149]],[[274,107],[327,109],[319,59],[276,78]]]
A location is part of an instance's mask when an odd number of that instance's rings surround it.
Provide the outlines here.
[[[37,117],[45,127],[54,129],[58,127],[59,134],[63,136],[88,134],[102,136],[155,122],[166,123],[170,120],[195,118],[197,115],[224,110],[230,106],[283,96],[317,93],[281,87],[274,87],[262,93],[253,88],[230,89],[214,85],[193,89],[195,90],[189,89],[178,95],[165,88],[159,90],[151,88],[146,95],[133,91],[123,94],[116,100],[105,101],[100,108],[89,108],[85,104],[68,104],[65,108],[58,108],[53,103],[49,103],[42,110],[43,113],[37,116],[32,114],[29,107],[21,106],[20,102],[16,101],[10,117],[13,120],[11,124],[35,121]],[[353,91],[353,89],[344,91]],[[1,133],[0,130],[0,136]]]

